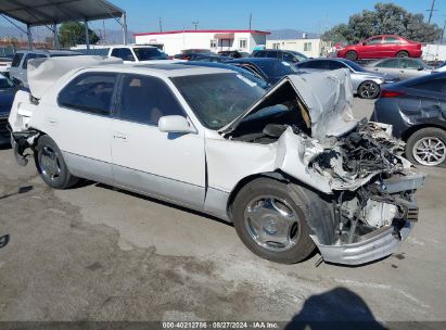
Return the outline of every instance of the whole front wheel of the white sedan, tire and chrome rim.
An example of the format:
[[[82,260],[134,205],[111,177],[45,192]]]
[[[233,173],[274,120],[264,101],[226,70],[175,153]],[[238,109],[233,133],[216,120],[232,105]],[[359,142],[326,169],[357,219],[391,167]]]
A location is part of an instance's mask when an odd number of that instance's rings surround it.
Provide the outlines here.
[[[305,191],[293,198],[286,183],[258,178],[243,187],[233,203],[233,223],[242,242],[256,255],[281,264],[305,259],[314,251],[305,218]]]

